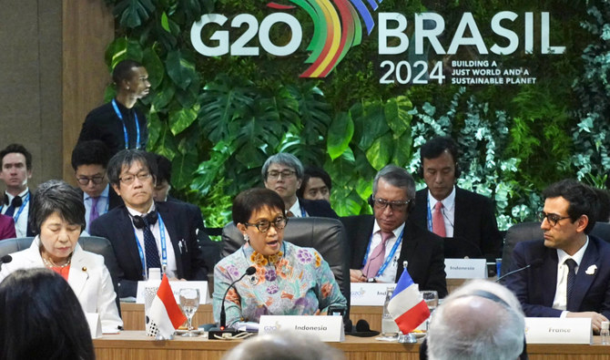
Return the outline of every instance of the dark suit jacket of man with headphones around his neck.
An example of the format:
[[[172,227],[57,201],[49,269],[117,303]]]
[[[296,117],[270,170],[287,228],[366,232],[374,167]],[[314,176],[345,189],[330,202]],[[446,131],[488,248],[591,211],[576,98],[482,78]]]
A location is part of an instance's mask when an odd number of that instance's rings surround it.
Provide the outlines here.
[[[186,206],[175,202],[157,202],[155,207],[163,219],[176,254],[178,278],[207,280],[205,261],[197,244],[197,227],[190,221]],[[117,255],[118,296],[136,296],[137,282],[142,277],[142,262],[137,251],[133,223],[125,205],[119,206],[91,223],[91,235],[107,238]],[[186,242],[186,248],[178,246]]]

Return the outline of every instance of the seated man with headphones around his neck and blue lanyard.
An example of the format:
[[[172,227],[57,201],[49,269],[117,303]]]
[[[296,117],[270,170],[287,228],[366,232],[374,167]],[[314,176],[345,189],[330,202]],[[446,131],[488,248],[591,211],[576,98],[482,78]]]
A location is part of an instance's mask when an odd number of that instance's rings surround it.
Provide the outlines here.
[[[170,280],[206,280],[197,227],[188,208],[153,201],[157,164],[142,150],[121,150],[107,169],[112,188],[125,202],[91,224],[91,234],[107,238],[120,268],[119,297],[135,296],[148,269],[161,268]]]

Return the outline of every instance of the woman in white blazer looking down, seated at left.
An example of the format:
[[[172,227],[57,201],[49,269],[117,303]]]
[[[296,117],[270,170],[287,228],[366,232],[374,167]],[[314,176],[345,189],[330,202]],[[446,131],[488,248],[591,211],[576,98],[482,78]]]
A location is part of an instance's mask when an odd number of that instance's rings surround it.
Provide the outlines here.
[[[123,321],[104,257],[78,244],[85,229],[82,196],[64,181],[49,180],[36,190],[32,210],[38,235],[28,249],[11,254],[13,260],[2,265],[0,281],[17,269],[51,269],[70,284],[85,313],[99,314],[104,333],[117,333]]]

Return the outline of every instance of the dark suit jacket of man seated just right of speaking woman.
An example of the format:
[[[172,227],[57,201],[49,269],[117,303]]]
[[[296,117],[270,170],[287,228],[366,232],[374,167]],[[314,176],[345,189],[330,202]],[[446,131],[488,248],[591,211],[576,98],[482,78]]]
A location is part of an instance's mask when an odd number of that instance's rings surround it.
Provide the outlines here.
[[[371,240],[375,218],[372,215],[341,218],[351,248],[351,269],[361,269]],[[402,262],[409,262],[407,270],[420,290],[436,290],[439,297],[447,295],[442,238],[424,230],[410,220],[404,225],[401,254],[396,271],[396,282],[401,277]]]

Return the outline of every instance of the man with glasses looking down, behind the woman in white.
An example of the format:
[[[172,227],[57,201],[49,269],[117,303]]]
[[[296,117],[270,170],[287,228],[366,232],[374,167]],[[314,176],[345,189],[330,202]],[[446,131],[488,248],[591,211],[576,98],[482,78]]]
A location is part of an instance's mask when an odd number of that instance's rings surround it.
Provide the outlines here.
[[[121,197],[110,189],[108,183],[106,167],[109,159],[108,148],[100,140],[79,142],[72,150],[72,169],[78,187],[83,191],[87,232],[91,222],[123,204]]]

